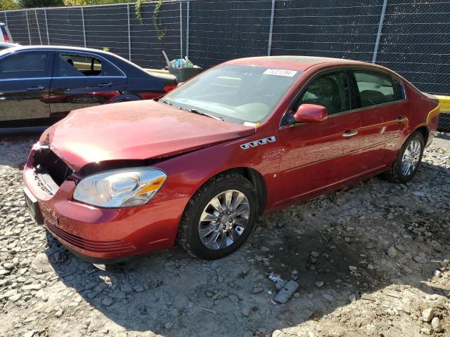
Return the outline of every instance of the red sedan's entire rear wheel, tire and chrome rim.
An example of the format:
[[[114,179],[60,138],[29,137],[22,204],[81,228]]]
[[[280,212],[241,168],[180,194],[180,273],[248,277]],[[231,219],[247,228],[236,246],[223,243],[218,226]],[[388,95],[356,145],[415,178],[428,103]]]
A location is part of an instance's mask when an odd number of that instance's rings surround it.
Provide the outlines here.
[[[397,160],[385,173],[385,177],[392,183],[407,183],[411,180],[420,168],[422,162],[425,141],[422,133],[415,131],[406,139],[401,147]]]

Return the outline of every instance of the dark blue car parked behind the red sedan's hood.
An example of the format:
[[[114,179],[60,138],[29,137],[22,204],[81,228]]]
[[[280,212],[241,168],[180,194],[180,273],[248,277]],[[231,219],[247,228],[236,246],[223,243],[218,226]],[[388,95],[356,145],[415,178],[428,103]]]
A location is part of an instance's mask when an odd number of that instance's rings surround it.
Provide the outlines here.
[[[118,55],[67,46],[0,51],[0,133],[42,131],[70,110],[158,98],[176,77],[148,73]]]

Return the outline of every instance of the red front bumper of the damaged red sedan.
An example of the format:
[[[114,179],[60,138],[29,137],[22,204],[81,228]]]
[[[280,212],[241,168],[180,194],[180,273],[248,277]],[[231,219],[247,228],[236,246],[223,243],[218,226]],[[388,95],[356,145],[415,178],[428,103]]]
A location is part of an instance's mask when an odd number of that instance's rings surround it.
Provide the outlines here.
[[[30,154],[24,181],[38,201],[44,226],[77,256],[96,263],[113,263],[174,246],[187,197],[102,209],[73,200],[72,181],[65,181],[55,194],[49,194],[36,180],[32,161]]]

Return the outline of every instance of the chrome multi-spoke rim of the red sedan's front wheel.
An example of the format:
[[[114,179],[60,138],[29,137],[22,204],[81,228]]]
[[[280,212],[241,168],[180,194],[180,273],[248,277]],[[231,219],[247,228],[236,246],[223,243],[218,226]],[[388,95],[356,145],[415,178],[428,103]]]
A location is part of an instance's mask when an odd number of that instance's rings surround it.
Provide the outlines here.
[[[226,190],[208,202],[198,223],[198,235],[209,249],[224,249],[241,235],[248,224],[250,205],[243,192]]]

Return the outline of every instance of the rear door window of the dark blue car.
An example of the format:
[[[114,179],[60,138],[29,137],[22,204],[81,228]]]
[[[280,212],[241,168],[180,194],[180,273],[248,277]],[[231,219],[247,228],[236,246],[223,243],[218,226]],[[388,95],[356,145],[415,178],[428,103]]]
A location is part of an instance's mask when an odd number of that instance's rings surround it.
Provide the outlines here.
[[[117,68],[95,55],[60,53],[56,62],[57,77],[123,76]]]

